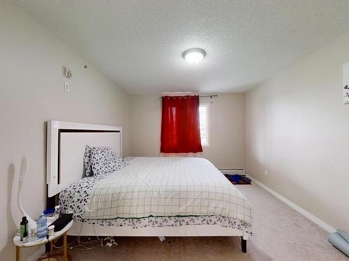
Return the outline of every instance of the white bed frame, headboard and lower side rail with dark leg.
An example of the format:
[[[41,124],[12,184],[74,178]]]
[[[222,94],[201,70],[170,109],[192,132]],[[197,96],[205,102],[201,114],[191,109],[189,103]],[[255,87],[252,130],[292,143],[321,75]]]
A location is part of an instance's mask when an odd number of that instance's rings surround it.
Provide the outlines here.
[[[47,194],[56,196],[84,175],[85,145],[111,147],[122,157],[122,127],[50,120],[47,122]],[[241,237],[246,253],[248,232],[218,225],[131,228],[74,221],[68,235],[119,237]]]

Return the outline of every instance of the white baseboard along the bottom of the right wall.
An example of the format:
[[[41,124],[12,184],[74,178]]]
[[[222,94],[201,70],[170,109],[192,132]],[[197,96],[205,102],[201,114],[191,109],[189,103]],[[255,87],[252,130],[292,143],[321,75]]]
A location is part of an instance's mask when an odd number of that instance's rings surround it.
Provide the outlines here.
[[[336,232],[335,228],[332,228],[332,226],[329,226],[329,224],[325,223],[324,221],[322,221],[321,219],[319,219],[318,217],[314,216],[313,214],[307,212],[305,209],[302,209],[302,207],[299,207],[299,205],[293,203],[291,200],[289,200],[288,198],[285,198],[284,196],[280,195],[279,193],[277,193],[276,191],[270,189],[269,187],[265,186],[265,184],[263,184],[262,182],[260,182],[259,180],[256,180],[254,177],[251,177],[251,175],[247,175],[251,180],[253,180],[253,182],[255,182],[255,184],[258,184],[259,187],[261,187],[262,189],[265,189],[265,191],[268,191],[269,193],[271,193],[273,196],[275,196],[276,198],[278,198],[279,200],[281,200],[283,203],[285,203],[286,205],[292,207],[292,209],[295,209],[295,211],[299,212],[300,214],[302,214],[303,216],[305,216],[307,219],[313,221],[315,224],[317,224],[318,226],[320,226],[321,228],[323,228],[324,230],[326,230],[329,233],[333,233]]]

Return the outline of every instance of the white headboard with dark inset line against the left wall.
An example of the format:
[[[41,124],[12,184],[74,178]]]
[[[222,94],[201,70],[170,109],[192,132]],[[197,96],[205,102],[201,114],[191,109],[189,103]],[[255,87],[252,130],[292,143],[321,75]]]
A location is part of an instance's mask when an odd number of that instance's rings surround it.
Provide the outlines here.
[[[47,122],[47,196],[84,175],[86,145],[107,146],[122,157],[122,127],[50,120]]]

